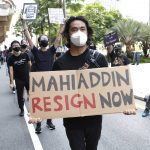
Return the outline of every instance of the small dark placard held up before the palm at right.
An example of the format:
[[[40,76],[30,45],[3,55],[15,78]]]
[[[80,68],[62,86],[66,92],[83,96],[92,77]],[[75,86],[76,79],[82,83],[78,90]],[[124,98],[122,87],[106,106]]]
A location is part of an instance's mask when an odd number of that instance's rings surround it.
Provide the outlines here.
[[[116,42],[119,42],[119,38],[116,32],[111,32],[107,35],[104,36],[104,45],[109,46],[109,45],[113,45]]]

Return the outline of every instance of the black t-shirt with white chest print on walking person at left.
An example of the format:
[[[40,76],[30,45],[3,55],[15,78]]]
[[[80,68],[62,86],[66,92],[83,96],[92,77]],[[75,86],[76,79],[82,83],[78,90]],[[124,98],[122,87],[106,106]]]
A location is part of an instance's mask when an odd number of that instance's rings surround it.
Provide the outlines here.
[[[29,79],[28,61],[29,56],[26,53],[21,53],[19,56],[12,55],[8,59],[8,66],[13,67],[14,78],[26,81]]]

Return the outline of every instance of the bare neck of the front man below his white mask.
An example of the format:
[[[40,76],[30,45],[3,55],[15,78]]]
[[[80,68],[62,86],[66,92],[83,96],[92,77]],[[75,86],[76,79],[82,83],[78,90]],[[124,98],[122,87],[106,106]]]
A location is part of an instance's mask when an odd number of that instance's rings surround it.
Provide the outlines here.
[[[82,46],[82,47],[71,45],[70,46],[70,53],[72,56],[79,56],[82,53],[84,53],[86,49],[87,49],[87,45]]]

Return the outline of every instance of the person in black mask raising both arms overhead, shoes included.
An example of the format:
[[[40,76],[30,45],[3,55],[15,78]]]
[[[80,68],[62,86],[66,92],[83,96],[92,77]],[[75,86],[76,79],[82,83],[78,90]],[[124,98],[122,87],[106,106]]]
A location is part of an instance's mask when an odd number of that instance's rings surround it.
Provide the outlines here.
[[[61,39],[61,29],[63,28],[63,25],[60,27],[59,34],[57,38],[55,39],[55,42],[53,46],[49,47],[49,38],[46,35],[41,35],[38,38],[39,43],[39,49],[33,44],[31,40],[30,33],[28,31],[27,25],[25,20],[21,19],[24,29],[24,34],[26,36],[26,39],[29,42],[31,52],[34,55],[35,60],[35,71],[51,71],[52,70],[52,64],[54,62],[54,54],[56,53],[57,47],[60,45],[60,39]],[[51,119],[47,119],[47,127],[50,130],[55,129],[55,125],[52,123]],[[37,134],[41,133],[41,122],[37,123],[35,132]]]

